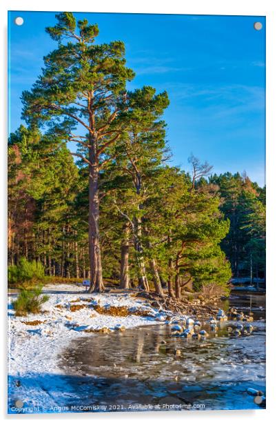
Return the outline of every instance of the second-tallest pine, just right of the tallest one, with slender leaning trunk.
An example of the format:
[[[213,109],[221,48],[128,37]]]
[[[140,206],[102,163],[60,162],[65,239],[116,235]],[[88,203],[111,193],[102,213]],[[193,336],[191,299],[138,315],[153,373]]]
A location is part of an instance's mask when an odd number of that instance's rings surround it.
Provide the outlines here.
[[[128,198],[125,205],[119,208],[116,200],[114,201],[121,216],[127,220],[124,225],[125,232],[130,233],[132,230],[139,284],[145,290],[150,288],[145,250],[150,253],[151,243],[147,239],[147,229],[143,226],[144,204],[152,193],[150,188],[154,186],[154,172],[161,166],[165,156],[165,123],[161,121],[161,115],[168,104],[166,92],[156,95],[156,90],[149,86],[128,92],[128,110],[125,114],[128,126],[116,154],[116,164],[121,172],[128,176],[131,186],[125,192]],[[127,245],[123,244],[124,247]],[[127,248],[125,257],[122,257],[125,266],[126,255]],[[156,260],[151,257],[149,262],[156,293],[163,296]]]

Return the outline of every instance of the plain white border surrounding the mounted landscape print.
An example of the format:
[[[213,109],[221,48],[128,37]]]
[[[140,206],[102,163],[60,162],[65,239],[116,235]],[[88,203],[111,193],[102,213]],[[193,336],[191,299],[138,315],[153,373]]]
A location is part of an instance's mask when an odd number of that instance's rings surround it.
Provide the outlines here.
[[[276,391],[276,288],[277,288],[277,208],[276,208],[276,187],[277,187],[277,131],[276,131],[276,102],[277,102],[277,3],[270,0],[195,0],[195,1],[157,1],[140,0],[130,2],[123,0],[105,1],[72,1],[72,0],[48,0],[46,3],[39,3],[34,0],[2,0],[0,3],[0,25],[1,25],[1,101],[0,101],[0,134],[1,134],[1,314],[6,315],[6,137],[8,134],[7,122],[7,10],[45,10],[61,11],[72,10],[82,12],[144,12],[144,13],[183,13],[183,14],[231,14],[231,15],[259,15],[267,17],[267,410],[266,411],[205,411],[205,412],[174,412],[174,413],[109,413],[109,414],[59,414],[59,415],[5,415],[6,412],[6,353],[2,350],[3,359],[1,368],[0,393],[1,415],[12,422],[18,420],[92,420],[98,422],[130,422],[139,424],[141,421],[156,421],[160,424],[167,424],[174,421],[175,424],[184,422],[216,424],[233,424],[237,421],[251,421],[252,424],[260,425],[261,421],[270,420],[274,417],[274,407],[277,402]],[[3,319],[1,326],[1,342],[6,337],[6,320]],[[5,346],[5,344],[1,344]]]

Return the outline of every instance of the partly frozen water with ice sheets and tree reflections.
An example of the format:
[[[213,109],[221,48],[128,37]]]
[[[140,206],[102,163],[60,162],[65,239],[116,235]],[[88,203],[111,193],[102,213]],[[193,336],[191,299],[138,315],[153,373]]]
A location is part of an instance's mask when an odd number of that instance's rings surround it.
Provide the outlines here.
[[[259,408],[246,390],[265,391],[265,322],[255,320],[253,326],[252,335],[238,338],[227,334],[225,323],[217,337],[206,327],[210,335],[203,340],[170,337],[165,325],[76,339],[59,365],[74,376],[68,377],[68,403],[102,404],[107,410],[114,404],[132,410],[135,404],[167,402]]]

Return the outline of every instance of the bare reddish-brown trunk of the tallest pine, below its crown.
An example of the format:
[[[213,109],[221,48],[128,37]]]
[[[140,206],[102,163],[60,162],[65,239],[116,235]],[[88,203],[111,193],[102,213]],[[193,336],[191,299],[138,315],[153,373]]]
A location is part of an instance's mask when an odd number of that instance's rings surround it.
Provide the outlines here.
[[[103,292],[101,248],[99,235],[99,168],[90,148],[89,182],[89,252],[90,252],[90,289],[89,292]]]

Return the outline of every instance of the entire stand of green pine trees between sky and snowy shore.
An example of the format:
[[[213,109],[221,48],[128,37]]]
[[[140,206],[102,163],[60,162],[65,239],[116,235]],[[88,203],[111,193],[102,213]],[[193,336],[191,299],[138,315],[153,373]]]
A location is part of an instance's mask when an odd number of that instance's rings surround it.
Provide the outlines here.
[[[112,281],[177,299],[228,290],[250,270],[265,277],[265,187],[193,154],[187,170],[172,166],[170,99],[127,90],[123,42],[96,44],[99,28],[70,12],[46,32],[57,49],[8,140],[8,265],[36,261],[53,281],[90,279],[90,292]]]

